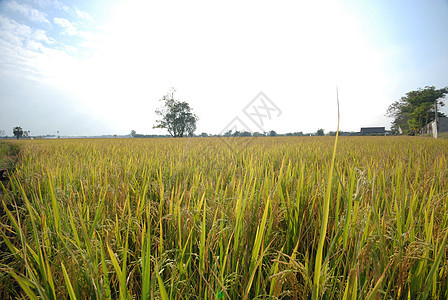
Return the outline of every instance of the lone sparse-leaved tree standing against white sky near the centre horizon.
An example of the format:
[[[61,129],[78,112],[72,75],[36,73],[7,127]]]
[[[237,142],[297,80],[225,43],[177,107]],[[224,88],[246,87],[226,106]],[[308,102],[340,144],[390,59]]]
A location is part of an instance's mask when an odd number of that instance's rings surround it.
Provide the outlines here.
[[[156,120],[154,128],[164,128],[172,137],[192,136],[198,117],[187,102],[174,99],[174,92],[172,89],[160,99],[164,105],[156,110],[160,119]]]

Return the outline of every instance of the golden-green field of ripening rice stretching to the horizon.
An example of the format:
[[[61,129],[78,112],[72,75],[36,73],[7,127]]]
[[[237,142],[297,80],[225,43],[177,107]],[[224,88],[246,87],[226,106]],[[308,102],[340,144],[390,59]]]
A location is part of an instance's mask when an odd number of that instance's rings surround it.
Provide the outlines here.
[[[448,140],[334,141],[15,141],[0,298],[448,298]]]

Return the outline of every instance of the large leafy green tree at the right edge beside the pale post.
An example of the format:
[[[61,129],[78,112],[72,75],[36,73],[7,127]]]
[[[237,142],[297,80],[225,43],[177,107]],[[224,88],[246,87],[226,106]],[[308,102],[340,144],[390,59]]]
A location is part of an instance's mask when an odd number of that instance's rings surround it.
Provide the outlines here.
[[[387,109],[386,116],[394,118],[391,130],[400,132],[401,129],[407,134],[418,133],[421,128],[434,120],[436,105],[445,105],[443,101],[446,94],[448,94],[448,87],[437,90],[433,86],[408,92]],[[446,116],[439,111],[437,115]]]

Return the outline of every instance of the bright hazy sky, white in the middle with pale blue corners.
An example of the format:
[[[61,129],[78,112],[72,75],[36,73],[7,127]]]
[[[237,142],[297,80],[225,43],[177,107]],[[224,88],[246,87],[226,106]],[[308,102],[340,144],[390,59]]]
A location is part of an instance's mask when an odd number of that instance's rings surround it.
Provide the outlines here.
[[[447,0],[0,1],[8,135],[165,133],[171,87],[196,133],[335,130],[336,86],[341,130],[389,128],[387,107],[427,85],[448,85]],[[263,124],[244,113],[260,92]]]

